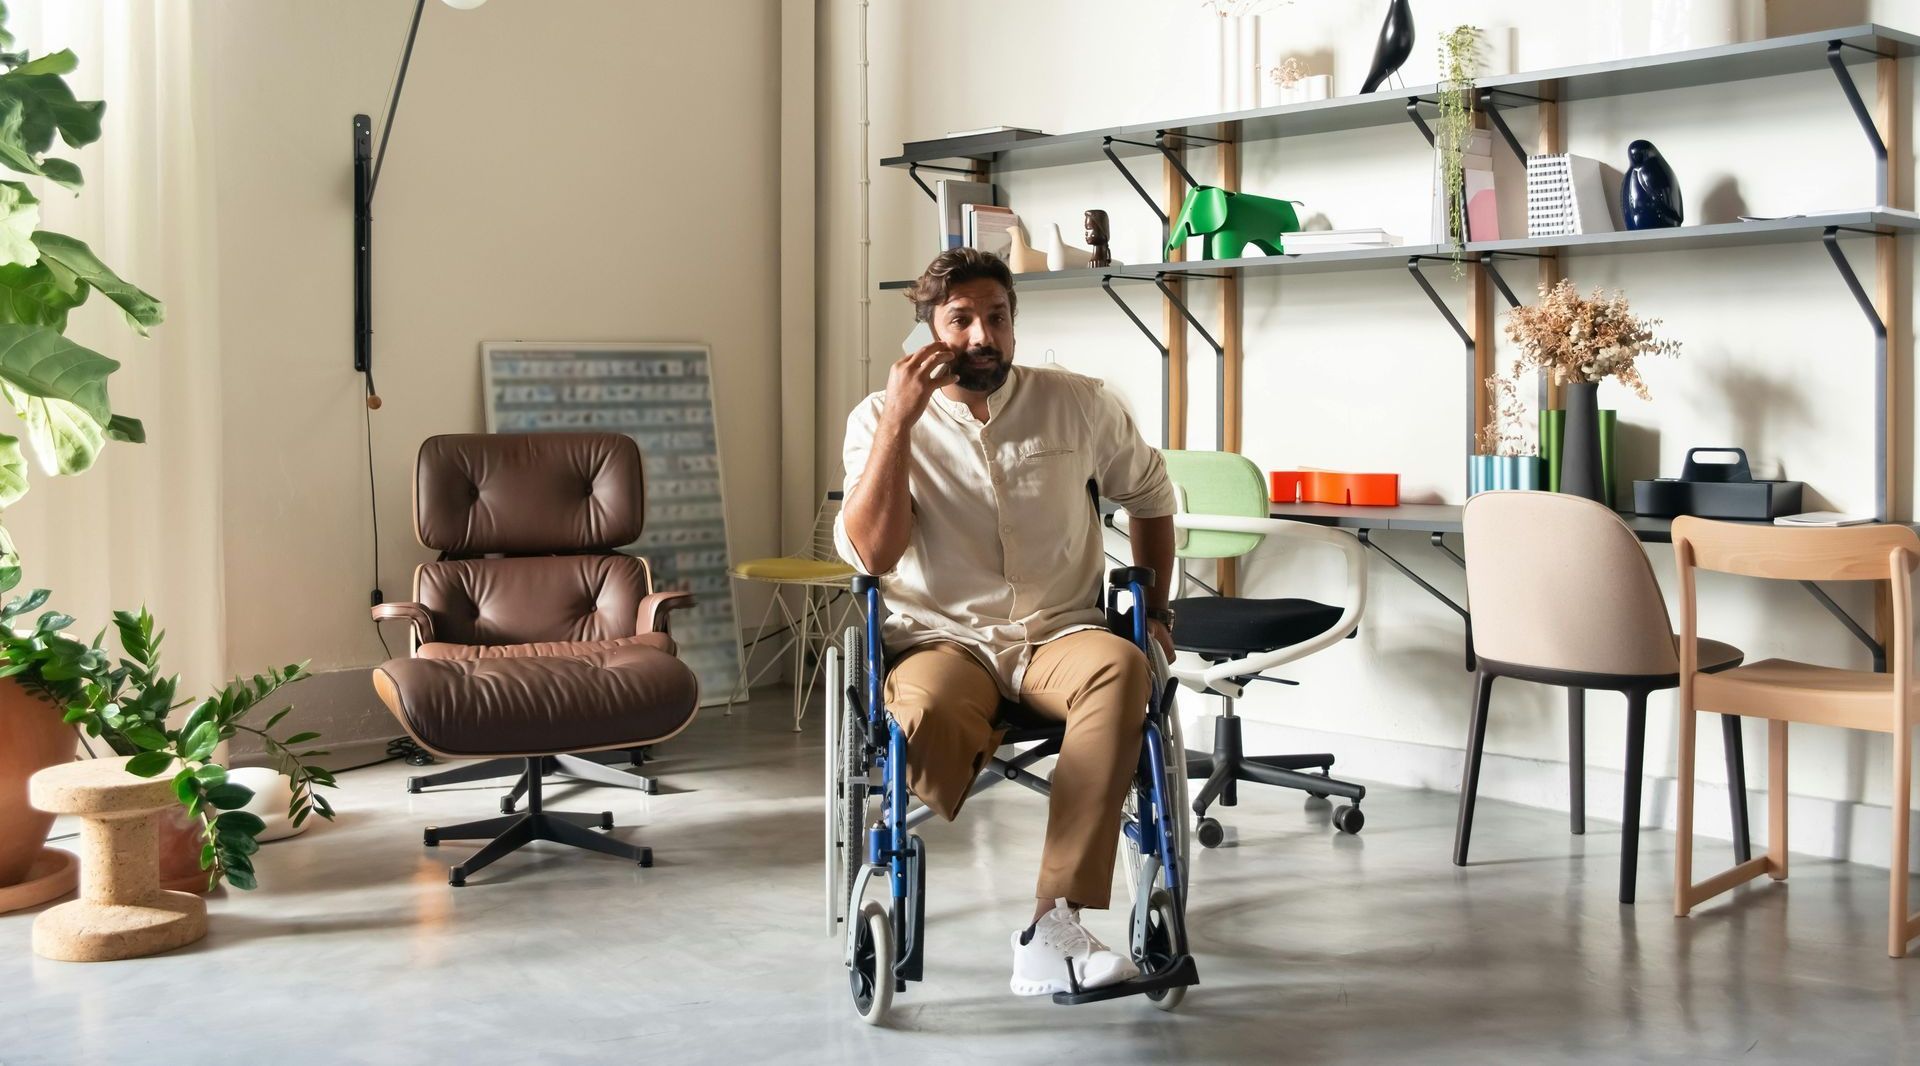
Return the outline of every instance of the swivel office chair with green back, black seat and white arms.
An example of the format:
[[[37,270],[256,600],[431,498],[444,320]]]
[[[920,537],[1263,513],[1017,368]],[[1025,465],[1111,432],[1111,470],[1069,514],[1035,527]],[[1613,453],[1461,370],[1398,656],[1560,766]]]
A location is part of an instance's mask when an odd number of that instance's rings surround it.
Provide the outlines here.
[[[1188,651],[1173,676],[1196,691],[1225,701],[1213,722],[1213,753],[1187,755],[1187,774],[1206,778],[1194,797],[1194,837],[1204,847],[1225,839],[1221,824],[1208,816],[1219,801],[1238,803],[1238,784],[1256,782],[1296,787],[1315,799],[1338,795],[1348,803],[1334,809],[1332,824],[1342,834],[1365,826],[1359,801],[1365,786],[1331,776],[1331,753],[1246,755],[1240,745],[1240,718],[1233,711],[1246,686],[1256,680],[1294,684],[1263,676],[1265,670],[1325,651],[1354,634],[1367,603],[1367,553],[1357,538],[1342,530],[1286,522],[1267,517],[1267,484],[1248,457],[1233,451],[1164,451],[1167,474],[1181,499],[1173,517],[1177,559],[1238,559],[1269,538],[1288,547],[1317,549],[1338,557],[1346,572],[1344,607],[1311,599],[1254,599],[1223,595],[1179,595],[1173,607],[1173,647]],[[1181,574],[1185,584],[1185,569]],[[1306,770],[1319,770],[1308,774]]]

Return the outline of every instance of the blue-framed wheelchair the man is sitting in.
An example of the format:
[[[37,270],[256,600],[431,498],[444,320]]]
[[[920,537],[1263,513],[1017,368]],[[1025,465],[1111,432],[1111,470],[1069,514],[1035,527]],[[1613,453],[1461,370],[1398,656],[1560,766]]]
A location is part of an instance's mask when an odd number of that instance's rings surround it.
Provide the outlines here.
[[[1144,611],[1119,609],[1121,595],[1129,597],[1131,607],[1144,605],[1144,590],[1152,578],[1152,570],[1144,567],[1121,567],[1110,574],[1104,590],[1108,626],[1129,636],[1154,665],[1140,763],[1127,791],[1117,841],[1133,899],[1129,951],[1140,976],[1081,989],[1068,966],[1069,991],[1054,993],[1054,1003],[1060,1005],[1144,995],[1154,1006],[1173,1010],[1187,989],[1200,983],[1187,951],[1190,832],[1185,818],[1187,757],[1173,709],[1177,686],[1167,676],[1158,645],[1146,636]],[[881,699],[885,657],[879,642],[879,582],[854,576],[852,594],[864,624],[847,628],[839,647],[828,649],[826,665],[828,933],[845,937],[854,1010],[864,1022],[879,1024],[895,993],[904,993],[908,981],[922,980],[927,847],[912,830],[931,818],[933,811],[910,801],[906,734],[887,715]],[[975,778],[970,795],[1002,780],[1044,795],[1046,778],[1029,772],[1029,766],[1060,751],[1066,728],[1058,722],[1023,720],[1018,705],[1004,701],[1000,718],[1008,730],[1002,747]],[[868,899],[870,893],[874,899]]]

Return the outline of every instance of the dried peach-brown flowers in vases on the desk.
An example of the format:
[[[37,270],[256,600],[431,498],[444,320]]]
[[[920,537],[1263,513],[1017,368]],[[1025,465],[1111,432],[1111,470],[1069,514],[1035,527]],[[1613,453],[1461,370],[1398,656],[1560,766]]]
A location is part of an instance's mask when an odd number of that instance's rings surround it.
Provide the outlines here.
[[[1540,286],[1540,302],[1507,311],[1507,338],[1519,344],[1513,369],[1486,378],[1486,424],[1480,426],[1484,455],[1532,455],[1526,434],[1526,407],[1521,403],[1519,376],[1526,371],[1551,375],[1555,384],[1601,382],[1615,378],[1634,396],[1653,400],[1634,365],[1642,355],[1678,355],[1680,342],[1653,336],[1661,319],[1636,319],[1624,292],[1596,288],[1582,298],[1567,279]]]

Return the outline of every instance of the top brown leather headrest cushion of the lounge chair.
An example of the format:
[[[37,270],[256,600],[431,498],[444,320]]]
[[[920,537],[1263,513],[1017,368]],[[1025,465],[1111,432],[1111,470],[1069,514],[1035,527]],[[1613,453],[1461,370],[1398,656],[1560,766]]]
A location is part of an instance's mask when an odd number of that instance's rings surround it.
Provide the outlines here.
[[[639,446],[614,432],[432,436],[413,472],[413,530],[451,555],[611,551],[645,515]]]

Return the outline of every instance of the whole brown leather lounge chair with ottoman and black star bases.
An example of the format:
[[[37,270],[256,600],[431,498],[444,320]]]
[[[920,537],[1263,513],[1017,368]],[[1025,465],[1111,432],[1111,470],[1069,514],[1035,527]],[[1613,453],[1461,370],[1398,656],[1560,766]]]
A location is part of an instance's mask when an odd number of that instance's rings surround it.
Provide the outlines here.
[[[645,499],[639,448],[620,434],[449,434],[420,446],[413,526],[440,559],[415,570],[415,603],[372,609],[413,626],[411,657],[378,666],[372,684],[420,747],[518,759],[526,774],[524,812],[426,830],[430,847],[488,841],[453,866],[455,885],[536,839],[653,864],[649,849],[591,832],[612,828],[612,812],[540,803],[555,761],[659,743],[699,705],[699,682],[666,632],[668,611],[693,595],[653,592],[647,561],[616,551],[639,536]]]

